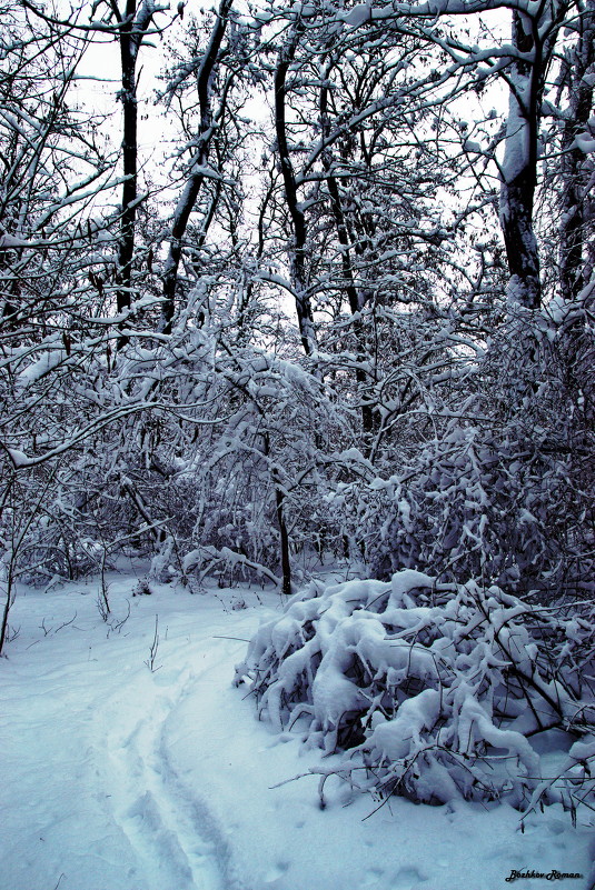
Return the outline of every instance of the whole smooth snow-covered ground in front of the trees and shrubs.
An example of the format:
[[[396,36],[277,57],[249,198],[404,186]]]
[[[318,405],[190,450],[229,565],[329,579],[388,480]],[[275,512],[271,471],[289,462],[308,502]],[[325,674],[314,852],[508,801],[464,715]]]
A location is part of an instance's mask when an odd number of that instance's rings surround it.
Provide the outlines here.
[[[113,619],[131,607],[119,632],[99,616],[97,582],[24,589],[11,612],[0,890],[587,887],[592,830],[557,807],[522,834],[507,806],[393,799],[370,814],[370,798],[331,779],[320,810],[317,777],[285,780],[328,760],[257,722],[231,684],[241,640],[278,597],[153,584],[132,598],[135,578],[109,580]],[[507,881],[514,871],[549,880]]]

